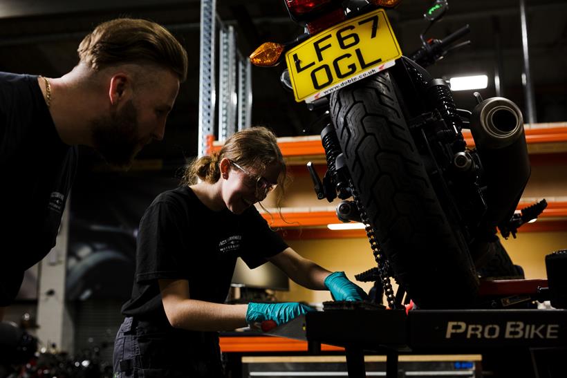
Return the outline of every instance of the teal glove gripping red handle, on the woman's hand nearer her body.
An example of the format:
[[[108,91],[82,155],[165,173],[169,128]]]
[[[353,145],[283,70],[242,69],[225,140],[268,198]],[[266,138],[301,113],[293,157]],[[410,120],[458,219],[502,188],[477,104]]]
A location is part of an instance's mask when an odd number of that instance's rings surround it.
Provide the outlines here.
[[[273,320],[277,325],[282,325],[299,315],[311,311],[315,311],[315,309],[297,302],[248,303],[246,322],[251,324],[256,321]]]

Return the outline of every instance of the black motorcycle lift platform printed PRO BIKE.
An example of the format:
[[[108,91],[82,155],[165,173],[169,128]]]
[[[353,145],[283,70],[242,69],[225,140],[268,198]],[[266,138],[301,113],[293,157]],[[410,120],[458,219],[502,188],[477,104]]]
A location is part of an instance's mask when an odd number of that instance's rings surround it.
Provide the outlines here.
[[[535,280],[521,281],[525,287],[535,285]],[[518,288],[513,283],[490,285],[502,292]],[[265,334],[307,341],[313,354],[322,343],[343,347],[348,377],[355,378],[366,377],[364,351],[387,356],[387,378],[398,377],[400,354],[508,355],[514,366],[495,377],[567,377],[562,367],[567,361],[567,310],[338,309],[309,312]]]

